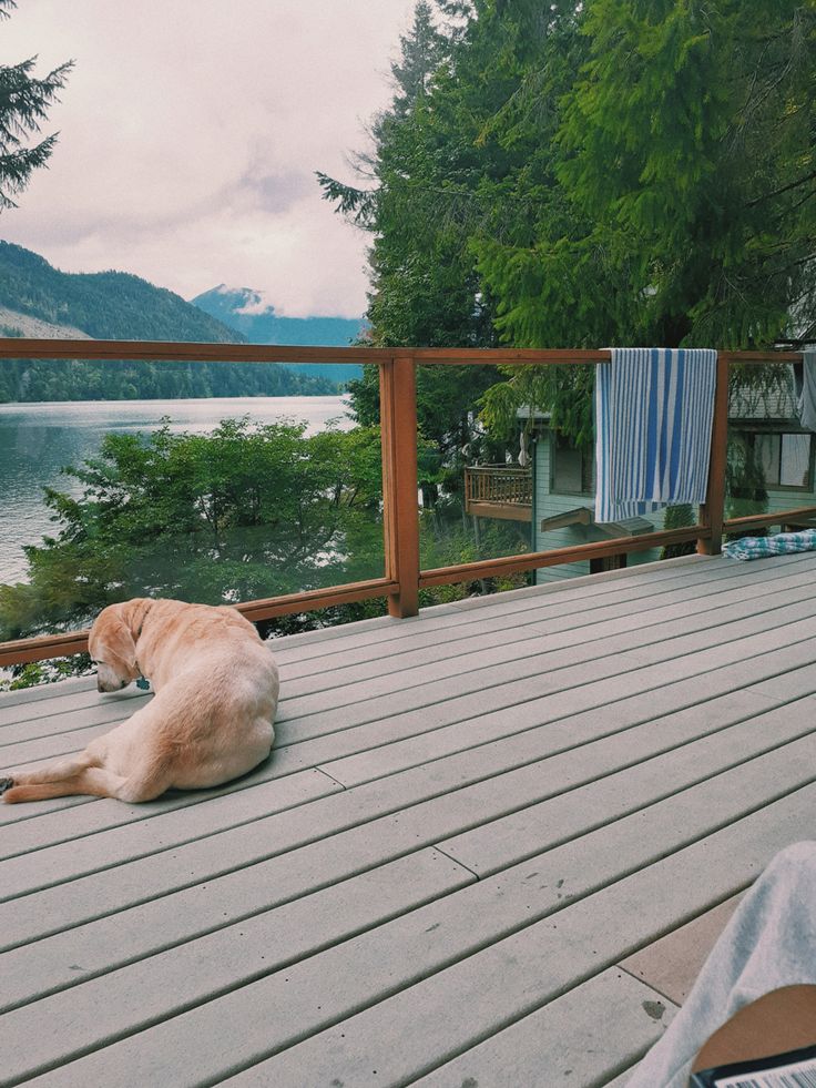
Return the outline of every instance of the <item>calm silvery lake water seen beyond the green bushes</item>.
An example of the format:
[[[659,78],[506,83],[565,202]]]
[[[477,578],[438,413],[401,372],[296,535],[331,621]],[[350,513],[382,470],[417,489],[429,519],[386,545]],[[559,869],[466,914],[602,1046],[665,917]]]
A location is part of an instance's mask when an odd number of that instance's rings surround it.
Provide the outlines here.
[[[172,430],[205,434],[222,419],[248,415],[259,423],[294,419],[314,434],[329,419],[350,427],[344,397],[224,397],[202,400],[93,400],[0,405],[0,583],[26,580],[22,547],[58,526],[42,488],[79,495],[82,485],[60,472],[99,453],[110,430],[150,431],[171,419]]]

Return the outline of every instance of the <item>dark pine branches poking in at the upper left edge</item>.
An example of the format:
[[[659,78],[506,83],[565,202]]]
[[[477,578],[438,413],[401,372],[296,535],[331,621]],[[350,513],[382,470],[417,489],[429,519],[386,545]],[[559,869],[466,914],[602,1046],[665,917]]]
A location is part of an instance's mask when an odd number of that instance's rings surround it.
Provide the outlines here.
[[[8,19],[16,0],[0,0],[0,19]],[[57,133],[27,146],[27,140],[39,133],[48,108],[58,101],[72,61],[60,64],[42,79],[32,72],[35,57],[19,64],[0,64],[0,210],[17,207],[13,197],[28,184],[33,170],[50,157]]]

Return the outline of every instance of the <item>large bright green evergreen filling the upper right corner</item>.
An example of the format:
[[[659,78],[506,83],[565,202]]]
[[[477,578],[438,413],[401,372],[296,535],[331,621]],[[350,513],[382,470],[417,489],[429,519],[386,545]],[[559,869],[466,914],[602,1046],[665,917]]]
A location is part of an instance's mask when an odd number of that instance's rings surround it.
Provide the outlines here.
[[[567,85],[537,85],[545,50],[526,115],[497,118],[552,171],[527,237],[477,243],[504,335],[736,348],[813,332],[814,4],[574,7]]]

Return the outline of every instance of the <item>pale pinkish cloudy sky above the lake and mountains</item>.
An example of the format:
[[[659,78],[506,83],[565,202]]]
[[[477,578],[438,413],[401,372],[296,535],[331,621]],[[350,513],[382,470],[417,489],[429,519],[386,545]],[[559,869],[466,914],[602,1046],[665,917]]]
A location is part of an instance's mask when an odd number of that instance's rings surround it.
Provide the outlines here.
[[[366,238],[320,200],[390,99],[414,0],[18,0],[0,63],[75,69],[60,140],[0,238],[64,272],[191,298],[226,283],[288,316],[357,316]]]

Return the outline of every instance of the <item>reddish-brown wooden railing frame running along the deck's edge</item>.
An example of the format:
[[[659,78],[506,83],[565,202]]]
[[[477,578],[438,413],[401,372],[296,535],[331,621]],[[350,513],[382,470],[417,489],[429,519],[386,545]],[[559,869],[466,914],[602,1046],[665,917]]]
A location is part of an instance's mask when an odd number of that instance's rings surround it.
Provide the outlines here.
[[[479,562],[459,563],[435,570],[420,570],[419,511],[417,506],[417,398],[416,368],[422,366],[519,366],[548,364],[572,366],[606,362],[608,350],[588,349],[470,349],[470,348],[371,348],[371,347],[286,347],[256,344],[150,343],[142,340],[53,340],[0,339],[0,365],[4,359],[129,359],[142,362],[206,363],[373,363],[380,372],[382,425],[382,491],[385,508],[385,574],[382,578],[292,593],[237,606],[251,620],[269,619],[332,604],[387,597],[395,617],[416,616],[419,590],[457,581],[470,581],[518,571],[601,559],[622,552],[672,543],[696,541],[700,552],[717,553],[723,529],[725,499],[725,455],[728,415],[728,365],[740,363],[795,362],[799,353],[724,352],[717,362],[717,392],[712,427],[708,497],[700,508],[695,526],[643,533],[636,538],[605,540],[523,556],[504,556]],[[816,514],[816,507],[796,511],[798,517]],[[2,511],[0,511],[2,517]],[[778,512],[752,517],[751,525],[786,521]],[[733,525],[741,526],[740,519]],[[71,631],[14,642],[0,643],[0,665],[38,661],[78,653],[88,647],[86,631]]]

